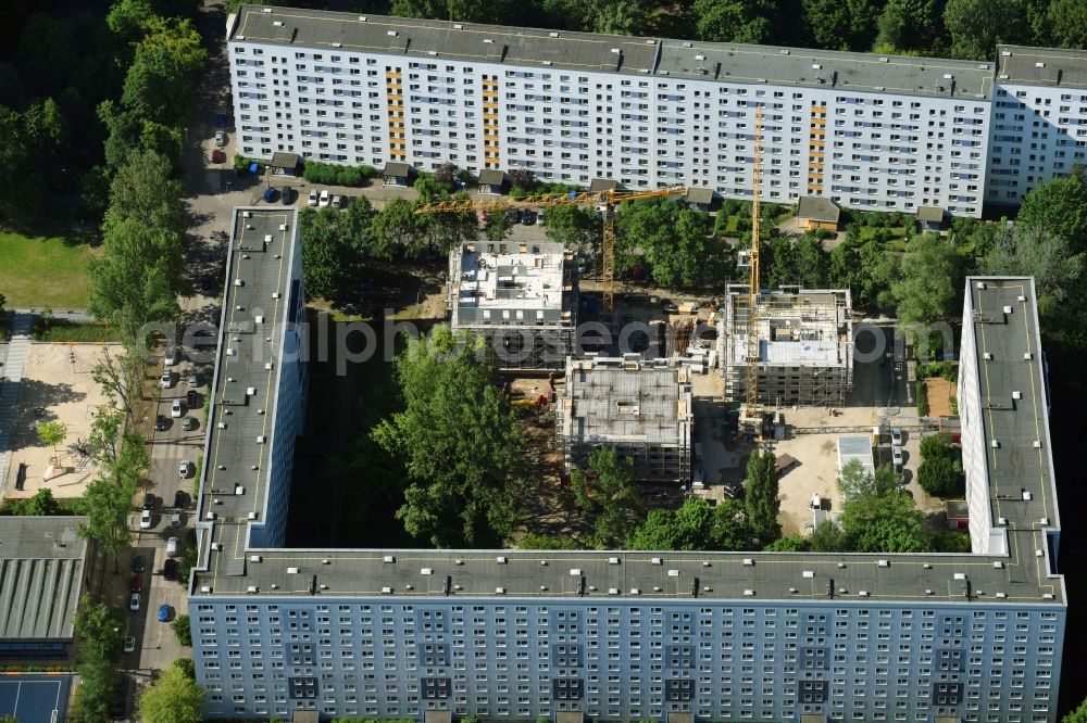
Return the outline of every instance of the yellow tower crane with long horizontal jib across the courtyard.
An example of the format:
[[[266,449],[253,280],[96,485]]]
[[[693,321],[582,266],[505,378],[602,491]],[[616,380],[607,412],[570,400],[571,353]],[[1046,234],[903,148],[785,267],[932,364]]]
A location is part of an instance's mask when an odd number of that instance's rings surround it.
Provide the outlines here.
[[[603,318],[611,321],[615,304],[615,206],[623,201],[659,199],[686,193],[685,186],[661,188],[653,191],[571,191],[570,193],[542,193],[520,199],[496,196],[493,199],[468,199],[434,201],[421,204],[416,214],[443,214],[479,211],[508,211],[510,208],[550,208],[553,206],[595,205],[603,216],[603,237],[600,244],[601,276],[603,278]]]

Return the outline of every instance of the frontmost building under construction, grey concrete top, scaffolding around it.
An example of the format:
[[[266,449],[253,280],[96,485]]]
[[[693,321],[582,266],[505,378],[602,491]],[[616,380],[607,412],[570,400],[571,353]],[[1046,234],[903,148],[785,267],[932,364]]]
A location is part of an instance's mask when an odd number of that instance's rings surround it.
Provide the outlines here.
[[[694,413],[690,370],[637,355],[566,363],[555,409],[566,469],[585,468],[611,446],[641,482],[690,482]]]

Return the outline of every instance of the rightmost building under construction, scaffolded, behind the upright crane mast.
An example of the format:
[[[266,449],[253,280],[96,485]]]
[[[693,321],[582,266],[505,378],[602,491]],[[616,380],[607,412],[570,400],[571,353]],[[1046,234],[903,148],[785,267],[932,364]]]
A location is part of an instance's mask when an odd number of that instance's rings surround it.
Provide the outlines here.
[[[755,308],[759,402],[845,406],[853,385],[853,322],[848,289],[765,290]],[[725,394],[744,398],[748,368],[748,288],[730,286],[717,327]]]

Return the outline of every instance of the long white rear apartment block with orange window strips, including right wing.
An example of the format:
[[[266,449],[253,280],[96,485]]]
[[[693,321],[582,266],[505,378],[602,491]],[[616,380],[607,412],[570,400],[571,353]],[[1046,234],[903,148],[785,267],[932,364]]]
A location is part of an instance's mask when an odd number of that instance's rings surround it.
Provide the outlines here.
[[[250,5],[228,47],[238,152],[260,158],[744,199],[762,106],[764,200],[976,217],[1087,142],[1075,51],[1002,46],[978,63]]]

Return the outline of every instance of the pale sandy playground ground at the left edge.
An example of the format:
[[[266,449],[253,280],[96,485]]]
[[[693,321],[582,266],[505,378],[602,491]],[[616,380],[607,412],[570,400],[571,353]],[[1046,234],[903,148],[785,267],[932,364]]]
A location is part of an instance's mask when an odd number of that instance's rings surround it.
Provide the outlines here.
[[[102,344],[30,344],[15,410],[12,464],[4,480],[5,497],[32,497],[48,486],[53,497],[80,497],[97,473],[89,458],[72,448],[90,436],[91,422],[105,395],[91,379],[91,370],[102,354]],[[53,449],[41,444],[35,432],[39,421],[61,421],[67,429],[64,441]],[[50,464],[54,470],[46,480]],[[15,491],[20,464],[25,464],[26,482]]]

